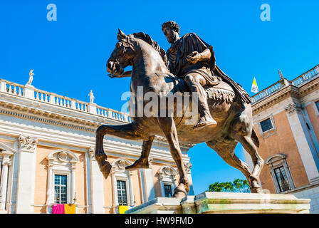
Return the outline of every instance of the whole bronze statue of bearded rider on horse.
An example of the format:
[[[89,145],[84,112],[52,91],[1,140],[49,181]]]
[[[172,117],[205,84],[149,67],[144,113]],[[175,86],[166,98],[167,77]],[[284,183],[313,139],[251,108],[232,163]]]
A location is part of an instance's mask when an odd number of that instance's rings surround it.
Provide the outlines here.
[[[259,141],[253,129],[251,99],[241,86],[231,80],[215,64],[214,51],[195,33],[188,33],[179,38],[179,28],[173,21],[164,23],[162,31],[167,41],[172,43],[165,53],[162,48],[145,33],[125,35],[117,33],[118,42],[107,62],[111,78],[130,76],[130,113],[132,123],[125,125],[101,125],[96,131],[95,158],[101,172],[108,178],[112,166],[103,150],[104,135],[109,134],[128,140],[143,140],[140,158],[126,170],[148,167],[148,156],[155,135],[163,136],[169,143],[170,152],[179,171],[179,184],[174,189],[173,197],[182,199],[189,192],[189,182],[182,162],[179,142],[206,145],[215,150],[229,165],[243,172],[249,181],[251,192],[260,193],[258,177],[263,167],[263,160],[258,155]],[[132,71],[124,68],[132,66]],[[184,80],[183,80],[184,78]],[[143,88],[142,95],[154,93],[164,100],[171,94],[183,94],[187,91],[198,94],[199,113],[197,123],[189,124],[193,117],[187,112],[194,105],[182,105],[183,115],[169,112],[172,109],[166,104],[166,115],[135,115],[138,107],[133,103],[142,103],[146,107],[150,100],[141,100],[138,90]],[[176,110],[177,100],[174,100]],[[157,110],[156,110],[157,109]],[[215,123],[216,122],[216,123]],[[234,154],[238,142],[249,152],[253,160],[253,170]]]

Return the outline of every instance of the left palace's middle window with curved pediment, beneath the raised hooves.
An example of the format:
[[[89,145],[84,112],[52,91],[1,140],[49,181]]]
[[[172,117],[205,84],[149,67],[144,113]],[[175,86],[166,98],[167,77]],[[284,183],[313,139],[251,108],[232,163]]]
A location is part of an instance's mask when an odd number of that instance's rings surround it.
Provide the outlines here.
[[[132,172],[125,170],[125,166],[132,165],[132,162],[126,159],[117,159],[112,163],[112,181],[113,181],[113,202],[115,212],[118,213],[118,206],[135,206],[135,197],[132,184]]]

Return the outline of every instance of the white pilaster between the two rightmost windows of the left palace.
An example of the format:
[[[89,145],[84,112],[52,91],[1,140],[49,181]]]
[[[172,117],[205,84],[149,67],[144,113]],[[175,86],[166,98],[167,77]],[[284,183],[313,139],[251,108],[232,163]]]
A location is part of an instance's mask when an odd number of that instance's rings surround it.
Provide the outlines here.
[[[154,190],[154,180],[152,172],[152,160],[153,158],[149,157],[149,168],[142,169],[142,179],[145,192],[145,202],[155,199],[155,190]]]

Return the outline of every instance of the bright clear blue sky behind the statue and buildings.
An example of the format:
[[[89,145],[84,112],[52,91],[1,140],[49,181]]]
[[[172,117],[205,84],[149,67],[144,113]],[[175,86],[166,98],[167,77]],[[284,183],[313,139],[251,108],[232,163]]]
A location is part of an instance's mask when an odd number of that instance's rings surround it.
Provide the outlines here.
[[[57,21],[48,21],[56,4]],[[261,4],[271,21],[261,21]],[[105,63],[125,33],[143,31],[167,50],[161,31],[177,21],[181,35],[194,32],[214,46],[216,64],[251,95],[278,80],[278,69],[296,78],[319,63],[319,1],[0,1],[0,78],[120,110],[130,78],[108,78]],[[236,154],[244,160],[242,148]],[[189,150],[195,193],[219,181],[244,178],[204,144]]]

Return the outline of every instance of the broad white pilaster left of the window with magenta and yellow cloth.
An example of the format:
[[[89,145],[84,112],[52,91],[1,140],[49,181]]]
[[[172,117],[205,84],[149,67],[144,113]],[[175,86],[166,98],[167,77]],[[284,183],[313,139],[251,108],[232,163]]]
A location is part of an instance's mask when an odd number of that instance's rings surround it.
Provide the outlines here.
[[[36,178],[36,145],[38,139],[19,137],[19,171],[16,193],[16,213],[33,213]]]

